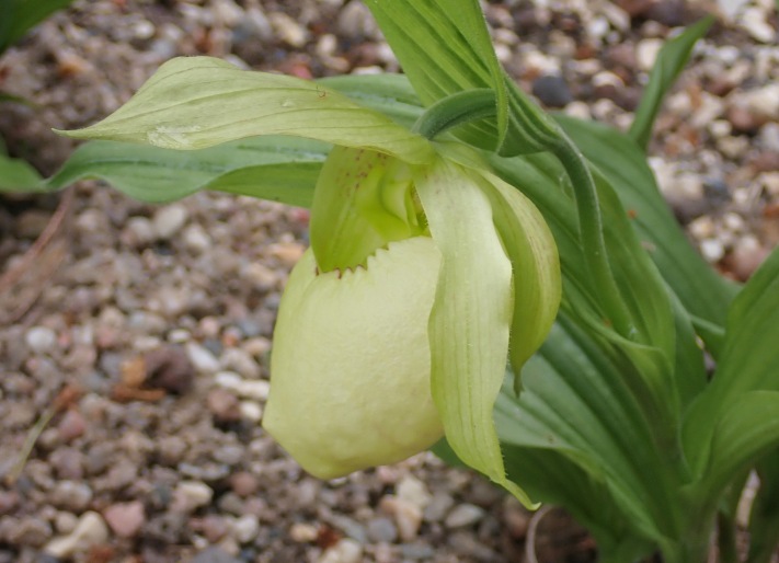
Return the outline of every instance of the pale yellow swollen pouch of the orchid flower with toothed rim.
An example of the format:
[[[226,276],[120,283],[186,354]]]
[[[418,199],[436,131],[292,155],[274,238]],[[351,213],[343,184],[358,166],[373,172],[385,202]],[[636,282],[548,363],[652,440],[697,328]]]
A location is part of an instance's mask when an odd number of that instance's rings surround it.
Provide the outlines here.
[[[440,253],[392,242],[367,268],[317,274],[311,251],[282,298],[263,426],[321,479],[394,463],[443,435],[427,321]]]

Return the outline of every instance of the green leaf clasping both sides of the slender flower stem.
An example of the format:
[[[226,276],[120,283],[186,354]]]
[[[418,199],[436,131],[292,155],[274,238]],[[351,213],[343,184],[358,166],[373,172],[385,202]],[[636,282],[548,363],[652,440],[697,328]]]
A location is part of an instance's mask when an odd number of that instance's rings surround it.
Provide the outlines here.
[[[543,154],[490,161],[501,177],[519,186],[534,202],[554,233],[563,275],[562,310],[609,343],[604,352],[621,363],[626,381],[641,398],[640,409],[655,421],[655,439],[675,447],[680,393],[672,377],[677,345],[673,309],[667,289],[632,232],[614,191],[595,171],[611,267],[638,323],[638,337],[633,341],[617,337],[604,325],[600,288],[587,284],[587,264],[578,240],[573,198],[560,187],[561,179],[565,177],[561,166]]]

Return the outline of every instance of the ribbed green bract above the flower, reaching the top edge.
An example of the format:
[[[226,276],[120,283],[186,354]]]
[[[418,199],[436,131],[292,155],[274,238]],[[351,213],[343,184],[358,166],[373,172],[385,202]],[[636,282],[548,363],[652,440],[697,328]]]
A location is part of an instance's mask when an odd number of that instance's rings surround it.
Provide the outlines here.
[[[452,133],[479,148],[525,154],[562,142],[559,128],[502,70],[476,0],[371,0],[403,71],[429,106],[465,90],[495,92],[496,118]]]

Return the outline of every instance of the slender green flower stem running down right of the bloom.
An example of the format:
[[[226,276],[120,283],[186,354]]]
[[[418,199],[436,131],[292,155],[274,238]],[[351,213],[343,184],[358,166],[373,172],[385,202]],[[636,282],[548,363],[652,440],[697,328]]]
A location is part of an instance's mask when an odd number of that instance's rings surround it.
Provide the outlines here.
[[[550,147],[550,150],[560,160],[573,184],[578,211],[580,237],[589,276],[603,300],[604,309],[608,315],[607,322],[614,326],[618,334],[632,340],[635,328],[608,263],[595,180],[584,157],[573,141],[562,131],[560,131],[560,141]]]

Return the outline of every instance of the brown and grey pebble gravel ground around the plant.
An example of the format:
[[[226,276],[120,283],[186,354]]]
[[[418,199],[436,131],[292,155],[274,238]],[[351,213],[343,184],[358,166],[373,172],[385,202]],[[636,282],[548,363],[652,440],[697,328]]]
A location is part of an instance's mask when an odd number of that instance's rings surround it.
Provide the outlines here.
[[[702,42],[652,147],[691,239],[738,279],[779,242],[771,5],[747,2]],[[625,127],[662,38],[703,7],[485,9],[528,92]],[[0,58],[0,90],[34,102],[0,105],[0,133],[50,173],[71,149],[50,127],[93,123],[195,54],[303,78],[398,68],[354,0],[78,1]],[[0,199],[0,562],[523,560],[529,515],[481,479],[421,455],[324,483],[260,428],[307,219],[214,194],[151,207],[90,182]],[[576,558],[549,561],[592,561],[586,541]]]

